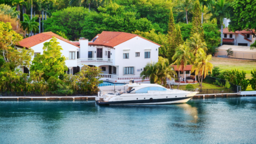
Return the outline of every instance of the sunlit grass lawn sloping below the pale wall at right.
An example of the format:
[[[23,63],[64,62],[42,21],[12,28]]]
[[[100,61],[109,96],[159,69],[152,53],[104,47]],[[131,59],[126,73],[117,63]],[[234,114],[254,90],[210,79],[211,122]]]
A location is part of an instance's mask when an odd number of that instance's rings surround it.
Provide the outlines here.
[[[218,66],[221,70],[232,70],[239,69],[240,71],[245,71],[247,73],[247,78],[251,78],[251,71],[256,69],[255,60],[242,60],[242,59],[228,59],[222,57],[212,57],[210,63],[213,66]]]

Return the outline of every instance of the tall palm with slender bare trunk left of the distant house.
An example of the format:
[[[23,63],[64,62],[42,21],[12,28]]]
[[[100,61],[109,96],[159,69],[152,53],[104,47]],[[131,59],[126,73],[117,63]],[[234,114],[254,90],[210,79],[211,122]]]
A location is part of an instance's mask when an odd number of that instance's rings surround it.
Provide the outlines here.
[[[223,40],[223,19],[224,18],[230,18],[230,12],[231,12],[231,4],[229,2],[226,2],[225,0],[218,0],[210,8],[210,11],[208,13],[212,13],[212,16],[210,17],[210,20],[213,18],[216,18],[217,21],[219,21],[221,25],[221,40],[220,40],[220,46],[222,46],[222,40]]]

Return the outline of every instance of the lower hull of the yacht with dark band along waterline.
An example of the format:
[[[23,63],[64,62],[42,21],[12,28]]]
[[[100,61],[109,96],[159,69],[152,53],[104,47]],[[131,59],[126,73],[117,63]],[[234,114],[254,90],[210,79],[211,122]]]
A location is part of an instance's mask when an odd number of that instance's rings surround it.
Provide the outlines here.
[[[124,104],[177,104],[187,103],[191,97],[159,98],[153,100],[131,100],[131,101],[96,101],[99,105],[124,105]]]

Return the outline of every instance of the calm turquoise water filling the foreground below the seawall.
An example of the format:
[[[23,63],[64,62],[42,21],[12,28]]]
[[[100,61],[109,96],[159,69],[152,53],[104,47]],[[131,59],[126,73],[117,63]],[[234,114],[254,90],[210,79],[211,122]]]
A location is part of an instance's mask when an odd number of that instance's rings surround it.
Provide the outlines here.
[[[256,143],[256,97],[187,104],[1,101],[0,143]]]

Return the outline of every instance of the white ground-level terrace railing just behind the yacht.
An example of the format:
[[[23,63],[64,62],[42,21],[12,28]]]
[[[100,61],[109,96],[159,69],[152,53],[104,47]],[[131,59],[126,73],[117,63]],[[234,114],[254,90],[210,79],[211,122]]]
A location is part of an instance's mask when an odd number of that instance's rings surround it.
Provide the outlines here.
[[[136,82],[142,81],[142,77],[139,75],[128,75],[128,76],[117,76],[117,75],[111,75],[111,74],[100,74],[97,76],[101,80],[108,80],[108,81],[114,81],[114,82],[129,82],[130,79],[135,80]],[[148,81],[149,77],[146,77],[144,81]]]

